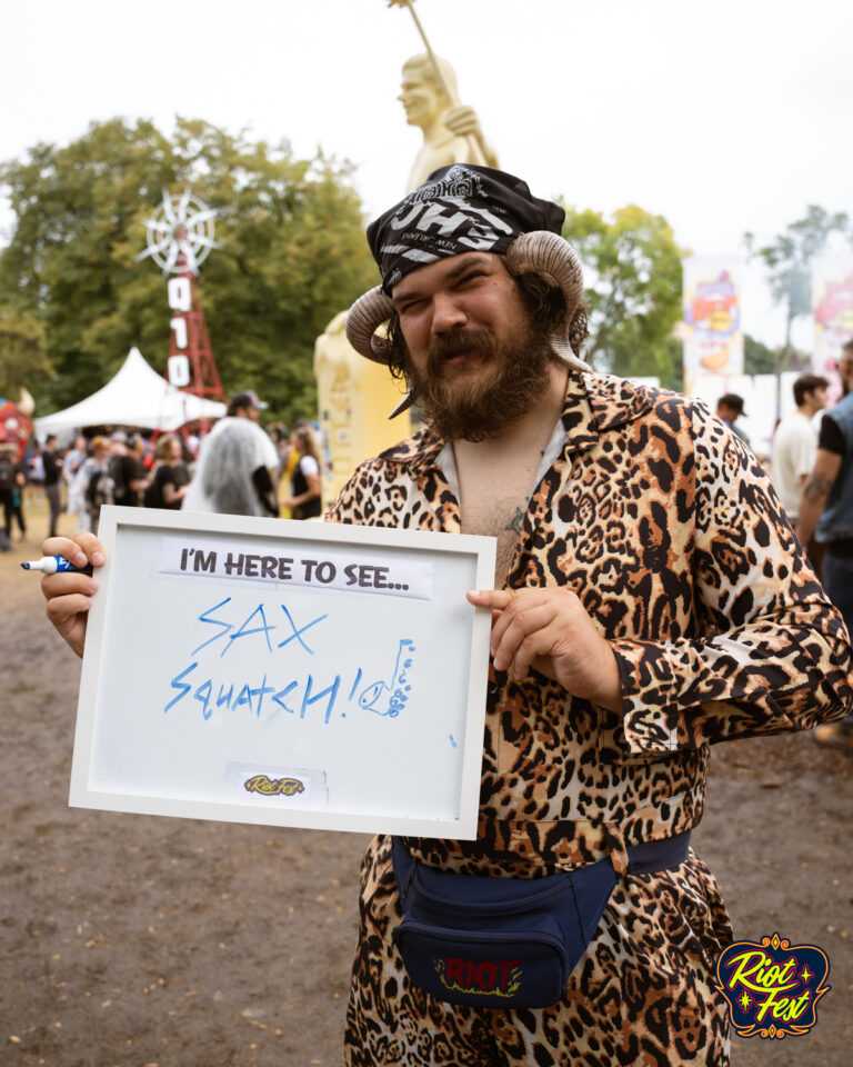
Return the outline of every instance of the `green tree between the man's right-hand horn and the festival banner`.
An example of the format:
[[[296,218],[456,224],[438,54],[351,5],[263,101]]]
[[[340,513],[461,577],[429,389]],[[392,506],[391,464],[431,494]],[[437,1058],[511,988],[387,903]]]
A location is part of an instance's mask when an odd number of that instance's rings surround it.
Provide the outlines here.
[[[681,383],[681,258],[672,229],[635,205],[609,222],[596,211],[566,208],[563,237],[578,250],[590,306],[590,361],[616,375],[656,375]]]

